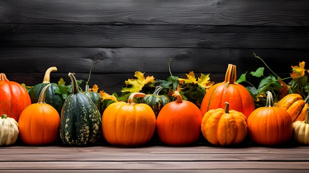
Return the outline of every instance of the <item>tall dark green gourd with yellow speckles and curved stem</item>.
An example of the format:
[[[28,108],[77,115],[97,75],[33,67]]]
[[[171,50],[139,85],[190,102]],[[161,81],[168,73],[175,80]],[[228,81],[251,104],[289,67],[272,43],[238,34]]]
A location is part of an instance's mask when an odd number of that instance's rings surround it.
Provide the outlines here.
[[[68,75],[72,80],[72,94],[62,107],[60,137],[67,145],[92,145],[100,138],[101,114],[89,97],[79,92],[75,76]]]

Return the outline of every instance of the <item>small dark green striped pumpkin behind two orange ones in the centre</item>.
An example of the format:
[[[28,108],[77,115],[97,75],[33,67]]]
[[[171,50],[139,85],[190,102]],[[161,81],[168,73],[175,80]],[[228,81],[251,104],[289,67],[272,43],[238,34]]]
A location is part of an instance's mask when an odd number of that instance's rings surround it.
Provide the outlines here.
[[[158,116],[161,108],[171,102],[170,99],[166,95],[159,95],[160,91],[163,88],[159,86],[154,90],[153,94],[147,94],[144,98],[139,99],[139,103],[148,104],[154,110],[155,117]]]

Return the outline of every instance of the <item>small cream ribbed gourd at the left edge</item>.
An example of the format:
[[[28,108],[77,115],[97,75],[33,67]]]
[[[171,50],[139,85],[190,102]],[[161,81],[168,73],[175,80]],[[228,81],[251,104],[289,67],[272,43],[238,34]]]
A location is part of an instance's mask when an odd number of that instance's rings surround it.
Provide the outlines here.
[[[0,146],[15,143],[19,135],[18,123],[14,118],[2,114],[0,117]]]

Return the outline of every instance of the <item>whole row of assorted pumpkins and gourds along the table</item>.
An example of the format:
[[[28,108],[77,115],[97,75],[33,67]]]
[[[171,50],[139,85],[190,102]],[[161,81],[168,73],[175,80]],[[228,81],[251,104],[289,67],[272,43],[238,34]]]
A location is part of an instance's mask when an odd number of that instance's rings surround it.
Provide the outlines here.
[[[177,100],[171,102],[156,90],[153,95],[132,93],[127,103],[115,102],[104,112],[95,104],[98,93],[79,92],[72,73],[68,74],[72,94],[64,103],[57,102],[56,85],[49,82],[55,70],[47,69],[43,83],[29,93],[0,74],[0,145],[13,144],[18,137],[29,145],[47,145],[60,135],[66,145],[86,146],[103,135],[110,144],[136,146],[147,143],[155,131],[168,145],[191,144],[201,134],[221,146],[241,143],[247,135],[262,145],[284,143],[292,136],[309,144],[309,108],[302,97],[289,94],[273,106],[272,94],[267,92],[266,106],[255,108],[249,92],[235,82],[236,66],[231,64],[225,81],[207,91],[200,108],[177,91]],[[136,98],[140,102],[134,103]],[[46,104],[47,99],[54,104]]]

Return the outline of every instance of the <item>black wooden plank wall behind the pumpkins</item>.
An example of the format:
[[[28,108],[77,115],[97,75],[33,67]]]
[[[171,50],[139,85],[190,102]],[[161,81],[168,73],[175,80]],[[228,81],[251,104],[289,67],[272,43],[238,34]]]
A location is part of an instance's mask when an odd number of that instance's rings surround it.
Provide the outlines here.
[[[308,60],[309,0],[0,1],[0,72],[29,86],[51,66],[51,82],[87,80],[98,58],[89,85],[108,93],[136,70],[165,80],[170,58],[174,75],[221,82],[229,63],[262,67],[253,52],[282,77]]]

